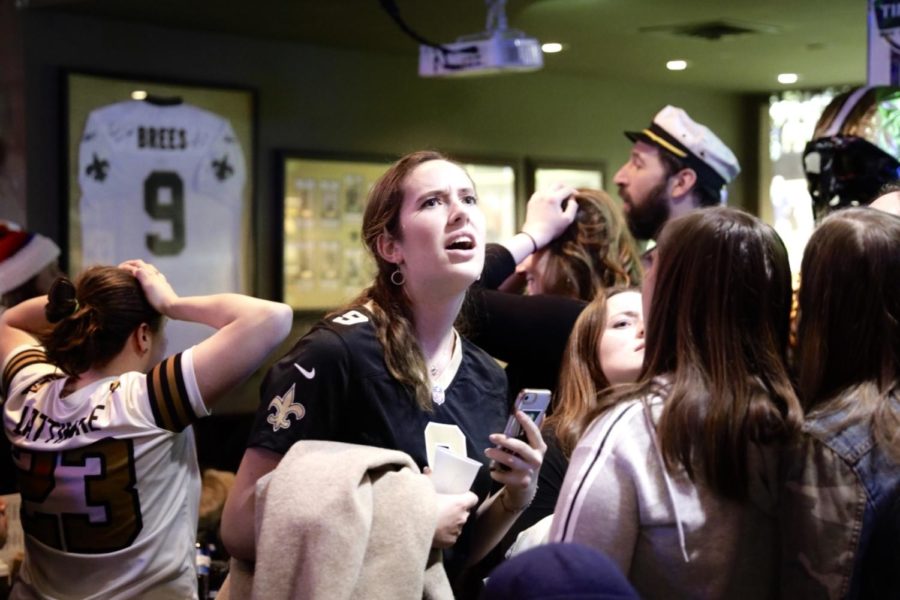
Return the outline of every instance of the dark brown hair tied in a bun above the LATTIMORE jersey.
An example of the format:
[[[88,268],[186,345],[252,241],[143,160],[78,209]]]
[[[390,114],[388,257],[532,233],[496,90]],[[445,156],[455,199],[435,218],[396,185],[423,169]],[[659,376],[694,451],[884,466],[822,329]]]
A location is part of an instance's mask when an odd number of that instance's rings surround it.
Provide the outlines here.
[[[116,267],[91,267],[75,283],[58,278],[45,313],[54,324],[41,336],[47,358],[69,375],[108,364],[142,323],[153,332],[163,323],[140,282]]]

